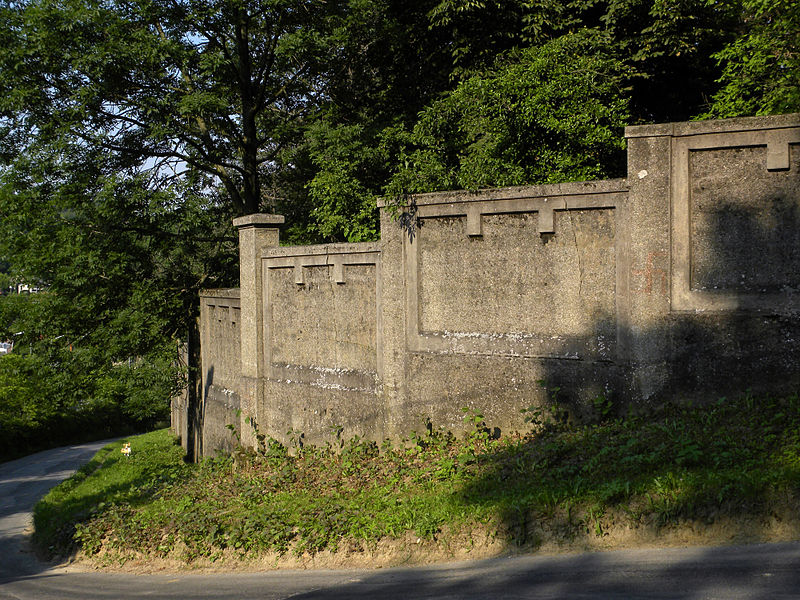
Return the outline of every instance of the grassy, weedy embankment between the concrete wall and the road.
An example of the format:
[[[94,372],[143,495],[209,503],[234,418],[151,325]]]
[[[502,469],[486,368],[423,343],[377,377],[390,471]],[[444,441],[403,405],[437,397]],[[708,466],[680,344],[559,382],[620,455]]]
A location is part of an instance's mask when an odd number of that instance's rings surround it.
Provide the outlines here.
[[[620,528],[658,533],[797,512],[796,396],[624,418],[598,408],[597,422],[581,425],[534,411],[530,433],[500,440],[467,413],[472,429],[460,439],[429,425],[381,447],[353,439],[290,453],[265,441],[257,453],[200,465],[185,464],[157,431],[131,438],[130,458],[121,443],[104,449],[45,497],[36,540],[106,562],[192,562],[369,552],[409,535],[429,547],[476,536],[501,547],[569,546]]]

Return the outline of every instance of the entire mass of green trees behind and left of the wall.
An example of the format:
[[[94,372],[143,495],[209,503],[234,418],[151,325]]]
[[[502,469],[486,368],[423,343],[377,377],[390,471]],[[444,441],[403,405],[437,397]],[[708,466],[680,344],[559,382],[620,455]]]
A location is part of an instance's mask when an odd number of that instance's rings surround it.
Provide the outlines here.
[[[0,288],[46,292],[0,296],[0,459],[165,415],[232,217],[362,241],[381,195],[621,175],[625,124],[800,110],[798,31],[791,0],[3,0]]]

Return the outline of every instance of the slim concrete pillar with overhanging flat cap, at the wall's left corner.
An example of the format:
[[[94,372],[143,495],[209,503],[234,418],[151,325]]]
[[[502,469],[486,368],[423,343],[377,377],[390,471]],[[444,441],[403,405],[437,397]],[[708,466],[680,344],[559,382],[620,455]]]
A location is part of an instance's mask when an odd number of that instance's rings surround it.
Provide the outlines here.
[[[278,246],[282,215],[253,214],[233,220],[239,230],[239,287],[241,288],[241,436],[245,447],[255,447],[250,419],[259,422],[258,405],[265,376],[264,286],[261,254]],[[260,424],[261,425],[261,424]],[[266,425],[266,424],[264,424]],[[265,430],[261,427],[262,431]]]

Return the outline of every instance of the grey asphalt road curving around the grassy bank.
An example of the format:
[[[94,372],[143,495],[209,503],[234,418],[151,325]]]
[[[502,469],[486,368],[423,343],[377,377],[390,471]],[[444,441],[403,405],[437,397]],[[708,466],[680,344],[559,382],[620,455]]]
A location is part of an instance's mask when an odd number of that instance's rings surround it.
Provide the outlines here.
[[[27,551],[31,509],[103,445],[0,465],[0,599],[800,599],[800,543],[525,556],[375,571],[81,573]]]

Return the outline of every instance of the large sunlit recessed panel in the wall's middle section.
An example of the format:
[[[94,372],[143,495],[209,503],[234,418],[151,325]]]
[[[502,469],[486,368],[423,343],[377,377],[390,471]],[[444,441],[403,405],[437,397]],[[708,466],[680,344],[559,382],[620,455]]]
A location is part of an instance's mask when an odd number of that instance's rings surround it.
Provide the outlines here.
[[[616,343],[613,209],[426,219],[417,249],[419,334],[450,351],[610,358]],[[462,343],[463,342],[463,343]]]

